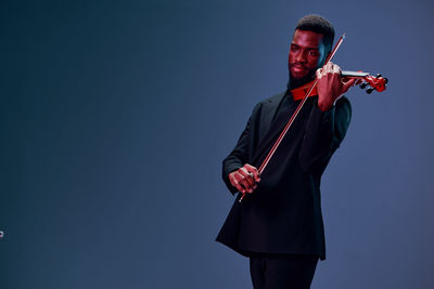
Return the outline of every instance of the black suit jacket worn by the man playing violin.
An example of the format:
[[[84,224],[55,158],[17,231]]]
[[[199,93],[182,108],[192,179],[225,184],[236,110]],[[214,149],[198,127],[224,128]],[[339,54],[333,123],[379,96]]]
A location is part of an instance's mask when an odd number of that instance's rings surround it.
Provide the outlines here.
[[[345,96],[329,111],[321,111],[317,102],[318,96],[307,100],[254,193],[242,202],[238,195],[217,241],[247,257],[278,253],[326,259],[321,175],[345,136],[352,108]],[[259,168],[298,103],[286,92],[255,106],[222,163],[222,179],[232,194],[238,191],[229,173],[244,163]]]

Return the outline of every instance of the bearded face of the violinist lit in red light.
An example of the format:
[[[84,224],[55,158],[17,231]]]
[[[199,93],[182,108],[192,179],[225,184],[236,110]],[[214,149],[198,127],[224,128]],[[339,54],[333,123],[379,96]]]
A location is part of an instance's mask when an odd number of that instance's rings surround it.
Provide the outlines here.
[[[314,78],[326,56],[322,38],[321,34],[314,31],[295,30],[288,60],[292,80],[308,82]]]

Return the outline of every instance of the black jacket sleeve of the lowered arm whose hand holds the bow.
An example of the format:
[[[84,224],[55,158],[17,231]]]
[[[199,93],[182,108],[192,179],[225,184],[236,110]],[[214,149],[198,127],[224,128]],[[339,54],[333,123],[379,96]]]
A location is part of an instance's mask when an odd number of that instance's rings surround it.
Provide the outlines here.
[[[257,104],[253,109],[253,113],[248,118],[247,124],[245,126],[244,131],[241,133],[235,147],[232,149],[229,156],[227,156],[222,161],[221,178],[224,179],[226,186],[229,188],[232,195],[234,195],[238,192],[238,189],[230,183],[229,174],[248,162],[248,142],[250,142],[248,136],[251,133],[251,124],[254,116],[256,115],[258,106],[259,104]]]

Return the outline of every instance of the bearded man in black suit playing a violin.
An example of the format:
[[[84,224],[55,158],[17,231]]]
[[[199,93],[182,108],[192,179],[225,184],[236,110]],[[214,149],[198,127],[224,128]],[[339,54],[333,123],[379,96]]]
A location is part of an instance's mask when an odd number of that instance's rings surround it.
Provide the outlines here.
[[[342,94],[355,82],[342,79],[333,63],[320,68],[333,38],[326,18],[299,19],[289,53],[286,92],[255,106],[224,160],[222,179],[232,194],[240,194],[217,241],[250,258],[255,289],[309,288],[318,259],[326,259],[320,180],[349,124],[350,104]],[[301,102],[293,100],[295,89],[315,77],[318,95],[308,97],[259,175],[257,168]]]

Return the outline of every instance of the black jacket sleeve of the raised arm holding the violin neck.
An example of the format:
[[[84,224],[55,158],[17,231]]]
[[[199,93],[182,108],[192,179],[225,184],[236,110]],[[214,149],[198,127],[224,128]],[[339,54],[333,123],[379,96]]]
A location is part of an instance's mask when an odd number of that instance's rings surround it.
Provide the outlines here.
[[[321,111],[318,100],[311,109],[298,160],[306,173],[322,173],[331,156],[344,140],[352,118],[349,101],[343,96],[328,111]]]

